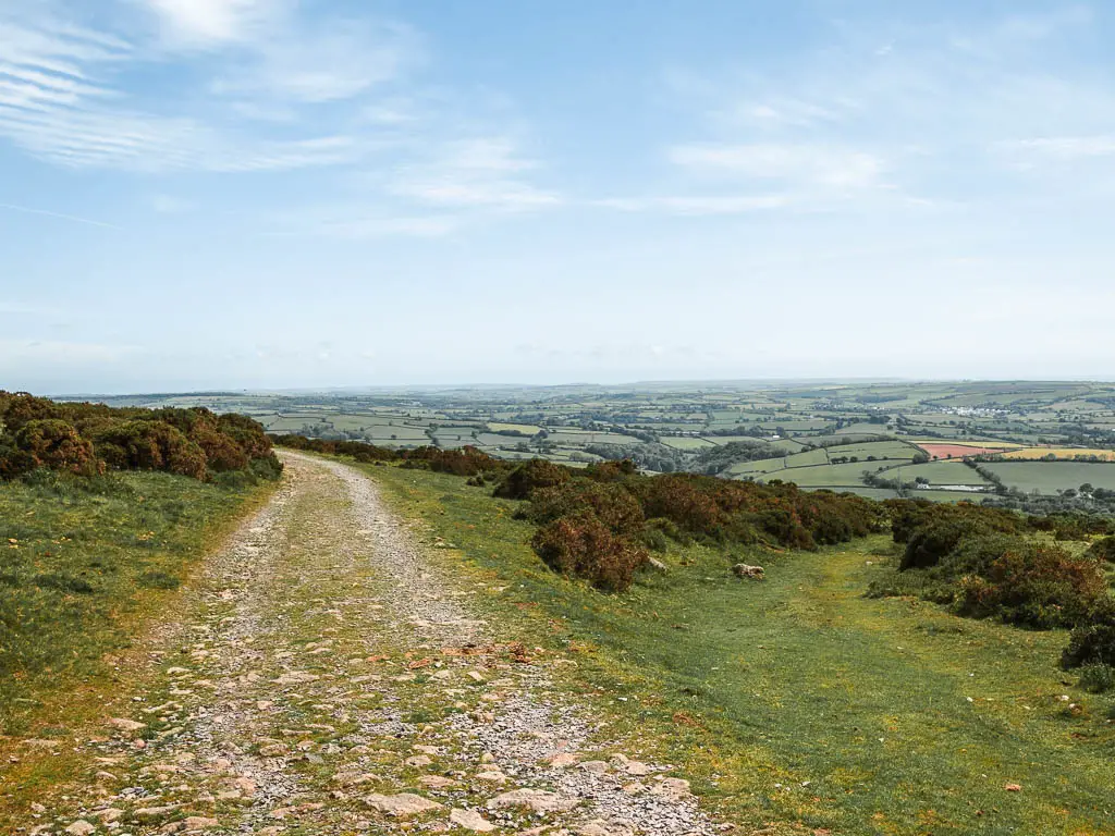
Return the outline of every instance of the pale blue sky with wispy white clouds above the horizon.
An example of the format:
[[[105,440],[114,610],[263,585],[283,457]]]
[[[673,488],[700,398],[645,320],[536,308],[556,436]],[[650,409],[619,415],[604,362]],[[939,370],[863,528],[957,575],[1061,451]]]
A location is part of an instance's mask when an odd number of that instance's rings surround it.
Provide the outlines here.
[[[1115,379],[1115,4],[0,0],[0,389]]]

